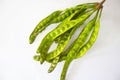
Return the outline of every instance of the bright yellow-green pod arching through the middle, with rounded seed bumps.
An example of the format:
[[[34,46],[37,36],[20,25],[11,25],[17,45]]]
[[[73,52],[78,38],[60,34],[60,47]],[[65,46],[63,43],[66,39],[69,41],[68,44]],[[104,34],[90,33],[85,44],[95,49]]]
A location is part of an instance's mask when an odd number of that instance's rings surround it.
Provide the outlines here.
[[[44,39],[42,40],[40,46],[38,47],[37,53],[42,53],[42,50],[44,50],[44,47],[49,45],[50,42],[53,42],[53,40],[58,37],[59,35],[63,34],[64,32],[68,31],[72,27],[78,25],[78,24],[83,24],[83,22],[93,13],[89,12],[84,15],[82,15],[80,18],[72,21],[67,21],[67,23],[63,22],[61,23],[57,28],[55,28],[53,31],[49,32]],[[59,34],[58,34],[59,32]],[[57,33],[57,34],[56,34]],[[45,46],[46,45],[46,46]],[[50,46],[48,46],[50,47]],[[47,51],[47,50],[46,50]]]

